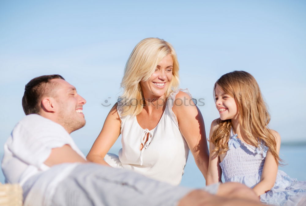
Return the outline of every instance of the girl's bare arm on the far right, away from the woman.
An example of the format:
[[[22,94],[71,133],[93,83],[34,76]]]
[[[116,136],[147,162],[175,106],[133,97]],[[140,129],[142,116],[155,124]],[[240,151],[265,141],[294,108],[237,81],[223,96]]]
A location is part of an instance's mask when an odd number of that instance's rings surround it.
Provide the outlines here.
[[[279,149],[281,146],[281,137],[278,132],[271,130],[272,134],[276,139],[276,151],[279,153]],[[278,164],[275,161],[272,153],[268,150],[265,163],[263,165],[263,172],[261,175],[260,182],[253,188],[254,192],[260,196],[263,193],[271,190],[274,186],[276,175],[278,171]]]

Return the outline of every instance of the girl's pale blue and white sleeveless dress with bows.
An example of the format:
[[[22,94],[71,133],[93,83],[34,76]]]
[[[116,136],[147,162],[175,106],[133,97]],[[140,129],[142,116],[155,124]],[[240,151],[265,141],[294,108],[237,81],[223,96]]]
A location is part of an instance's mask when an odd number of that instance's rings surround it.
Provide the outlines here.
[[[253,188],[260,182],[268,147],[248,145],[230,131],[229,150],[220,167],[226,182],[238,182]],[[271,190],[260,196],[260,201],[270,205],[306,205],[306,181],[290,178],[278,170]]]

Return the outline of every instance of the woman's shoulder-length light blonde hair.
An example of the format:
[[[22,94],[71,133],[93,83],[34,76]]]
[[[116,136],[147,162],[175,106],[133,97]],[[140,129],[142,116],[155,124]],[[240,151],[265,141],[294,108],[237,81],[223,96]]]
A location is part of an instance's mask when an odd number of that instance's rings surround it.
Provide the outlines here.
[[[149,80],[158,63],[168,54],[173,58],[173,77],[164,94],[165,100],[179,85],[179,65],[172,45],[163,39],[146,38],[135,46],[125,65],[121,82],[123,94],[118,99],[123,116],[136,116],[141,112],[145,102],[140,82]]]

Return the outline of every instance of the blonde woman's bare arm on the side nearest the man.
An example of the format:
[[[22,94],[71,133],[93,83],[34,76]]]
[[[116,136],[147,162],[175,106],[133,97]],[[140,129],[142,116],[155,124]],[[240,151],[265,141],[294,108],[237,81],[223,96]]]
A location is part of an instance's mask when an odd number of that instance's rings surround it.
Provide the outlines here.
[[[104,157],[118,139],[120,126],[121,120],[116,103],[108,113],[103,128],[86,157],[89,161],[109,165],[104,161]]]

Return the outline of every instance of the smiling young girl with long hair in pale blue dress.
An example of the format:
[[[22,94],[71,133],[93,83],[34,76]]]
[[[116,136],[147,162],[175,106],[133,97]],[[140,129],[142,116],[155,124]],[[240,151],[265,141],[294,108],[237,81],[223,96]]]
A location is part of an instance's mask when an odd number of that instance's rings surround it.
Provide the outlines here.
[[[281,139],[268,128],[270,115],[254,77],[245,71],[224,74],[215,83],[220,118],[211,123],[210,158],[206,184],[239,182],[263,203],[306,204],[306,181],[278,170]]]

